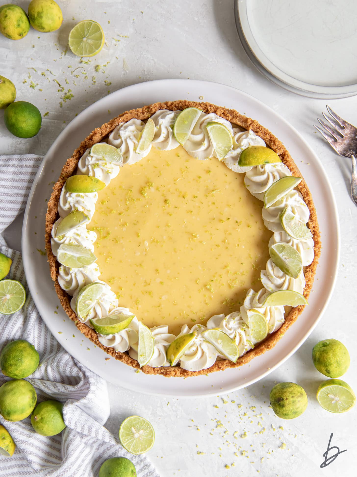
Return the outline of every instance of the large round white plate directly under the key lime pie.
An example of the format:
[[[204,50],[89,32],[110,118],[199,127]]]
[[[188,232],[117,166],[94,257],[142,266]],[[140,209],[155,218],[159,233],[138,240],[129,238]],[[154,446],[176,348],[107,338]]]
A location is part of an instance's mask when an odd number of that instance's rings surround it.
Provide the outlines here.
[[[198,101],[199,96],[203,96],[205,101],[247,113],[287,145],[315,199],[323,255],[309,300],[310,305],[273,350],[238,369],[185,380],[168,379],[136,373],[133,368],[113,358],[105,361],[108,355],[84,338],[63,311],[50,279],[46,258],[41,257],[37,249],[44,248],[45,214],[52,181],[58,179],[66,159],[90,131],[128,109],[157,101]],[[304,162],[301,162],[302,159]],[[323,167],[297,131],[278,114],[248,94],[222,84],[194,80],[158,80],[135,84],[109,94],[80,113],[60,133],[43,159],[30,191],[22,229],[22,253],[30,292],[43,320],[61,345],[78,361],[108,381],[141,393],[207,396],[227,393],[258,381],[283,363],[306,340],[325,310],[334,287],[339,254],[339,226],[335,201]]]

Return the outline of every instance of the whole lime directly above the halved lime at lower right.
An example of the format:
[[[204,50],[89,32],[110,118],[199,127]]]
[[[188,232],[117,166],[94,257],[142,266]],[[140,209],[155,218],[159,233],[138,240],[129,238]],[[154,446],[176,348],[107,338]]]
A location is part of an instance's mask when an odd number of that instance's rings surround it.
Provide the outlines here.
[[[312,349],[315,368],[329,378],[338,378],[349,368],[349,353],[346,346],[333,338],[322,340]]]

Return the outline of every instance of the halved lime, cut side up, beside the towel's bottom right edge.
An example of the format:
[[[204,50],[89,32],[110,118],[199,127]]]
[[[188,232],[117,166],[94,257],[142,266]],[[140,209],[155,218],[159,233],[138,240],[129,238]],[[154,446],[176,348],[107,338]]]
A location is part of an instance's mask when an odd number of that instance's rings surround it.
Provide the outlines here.
[[[131,454],[143,454],[154,445],[155,432],[149,421],[143,417],[130,416],[120,425],[119,440]]]

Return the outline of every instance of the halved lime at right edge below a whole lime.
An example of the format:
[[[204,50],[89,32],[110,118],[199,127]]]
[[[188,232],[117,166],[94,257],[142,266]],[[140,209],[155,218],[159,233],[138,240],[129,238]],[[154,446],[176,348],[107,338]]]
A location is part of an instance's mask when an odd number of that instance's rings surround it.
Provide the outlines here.
[[[351,387],[342,379],[327,379],[318,386],[317,401],[331,413],[344,413],[356,404]]]

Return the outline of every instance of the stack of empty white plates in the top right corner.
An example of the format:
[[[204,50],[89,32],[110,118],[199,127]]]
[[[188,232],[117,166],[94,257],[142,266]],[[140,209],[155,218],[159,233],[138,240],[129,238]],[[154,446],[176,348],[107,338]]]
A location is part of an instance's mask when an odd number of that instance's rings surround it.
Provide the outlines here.
[[[316,98],[357,94],[357,2],[236,0],[238,35],[269,80]]]

